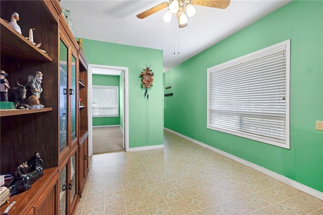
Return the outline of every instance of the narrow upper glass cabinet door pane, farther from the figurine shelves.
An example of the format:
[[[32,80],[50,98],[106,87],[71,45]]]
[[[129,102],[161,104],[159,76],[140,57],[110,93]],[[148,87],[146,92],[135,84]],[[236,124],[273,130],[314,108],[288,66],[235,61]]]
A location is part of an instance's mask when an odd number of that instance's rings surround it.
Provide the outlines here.
[[[72,55],[72,73],[71,73],[71,140],[76,138],[76,59]]]

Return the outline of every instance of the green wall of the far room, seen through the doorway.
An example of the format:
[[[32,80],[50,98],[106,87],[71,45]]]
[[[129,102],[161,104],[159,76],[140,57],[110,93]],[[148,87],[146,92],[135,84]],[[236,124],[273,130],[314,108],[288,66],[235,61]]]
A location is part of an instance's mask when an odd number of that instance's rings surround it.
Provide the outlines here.
[[[92,75],[92,85],[99,86],[118,86],[120,85],[119,76]],[[120,92],[120,89],[119,89]],[[120,94],[119,94],[120,97]],[[101,125],[120,125],[120,105],[118,117],[92,117],[93,126]]]

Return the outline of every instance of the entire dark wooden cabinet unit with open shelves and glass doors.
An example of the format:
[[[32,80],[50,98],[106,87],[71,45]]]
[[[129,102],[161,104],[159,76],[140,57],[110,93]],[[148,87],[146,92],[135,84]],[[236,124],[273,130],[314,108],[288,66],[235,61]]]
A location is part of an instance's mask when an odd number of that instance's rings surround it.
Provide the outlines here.
[[[44,175],[31,188],[10,197],[11,214],[73,214],[88,172],[87,66],[58,1],[0,1],[0,68],[11,88],[25,85],[41,71],[42,109],[0,110],[1,173],[14,173],[35,152],[44,162]],[[22,34],[7,21],[13,12]],[[33,28],[35,43],[25,37]],[[26,87],[27,98],[32,95]],[[79,98],[82,98],[81,103]],[[64,172],[64,174],[63,174]],[[63,190],[63,189],[62,189]],[[10,203],[9,202],[9,203]],[[0,213],[8,203],[0,207]]]

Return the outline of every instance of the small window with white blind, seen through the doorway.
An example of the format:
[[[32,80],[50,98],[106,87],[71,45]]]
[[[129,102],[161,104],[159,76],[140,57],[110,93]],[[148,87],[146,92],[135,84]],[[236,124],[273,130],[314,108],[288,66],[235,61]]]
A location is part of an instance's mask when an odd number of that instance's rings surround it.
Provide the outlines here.
[[[92,116],[119,116],[119,87],[95,86],[92,89]]]

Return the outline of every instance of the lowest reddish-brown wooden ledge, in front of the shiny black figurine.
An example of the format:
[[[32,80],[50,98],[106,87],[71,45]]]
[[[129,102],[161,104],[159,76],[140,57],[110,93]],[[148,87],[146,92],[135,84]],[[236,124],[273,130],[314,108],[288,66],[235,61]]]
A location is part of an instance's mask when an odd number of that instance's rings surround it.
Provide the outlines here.
[[[43,172],[44,175],[33,183],[29,190],[10,196],[9,203],[3,204],[0,211],[4,212],[5,208],[13,201],[16,201],[16,204],[11,208],[9,214],[22,214],[22,211],[27,211],[32,206],[31,203],[42,194],[42,190],[49,185],[50,181],[55,177],[55,174],[58,173],[58,168],[52,167],[44,169]]]

